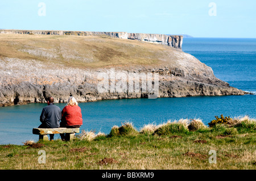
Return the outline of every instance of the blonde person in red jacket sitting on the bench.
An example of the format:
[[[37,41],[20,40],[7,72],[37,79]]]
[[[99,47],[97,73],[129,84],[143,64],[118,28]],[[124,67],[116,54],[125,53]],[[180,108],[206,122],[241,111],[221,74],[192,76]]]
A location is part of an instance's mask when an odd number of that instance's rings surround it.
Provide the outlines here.
[[[82,125],[82,111],[76,99],[71,96],[67,106],[61,111],[60,128],[80,128]],[[65,140],[65,134],[60,134],[61,140]]]

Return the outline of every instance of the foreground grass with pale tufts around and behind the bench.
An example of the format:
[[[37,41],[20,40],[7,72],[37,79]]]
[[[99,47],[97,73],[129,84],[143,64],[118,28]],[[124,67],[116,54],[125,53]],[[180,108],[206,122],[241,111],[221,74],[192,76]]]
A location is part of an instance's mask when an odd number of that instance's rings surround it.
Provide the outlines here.
[[[231,127],[217,124],[193,131],[188,129],[188,120],[144,125],[140,131],[124,123],[107,135],[82,131],[69,142],[0,145],[0,169],[254,170],[255,120],[238,122]],[[46,164],[38,162],[39,150],[46,151]],[[209,163],[210,150],[216,150],[216,164]]]

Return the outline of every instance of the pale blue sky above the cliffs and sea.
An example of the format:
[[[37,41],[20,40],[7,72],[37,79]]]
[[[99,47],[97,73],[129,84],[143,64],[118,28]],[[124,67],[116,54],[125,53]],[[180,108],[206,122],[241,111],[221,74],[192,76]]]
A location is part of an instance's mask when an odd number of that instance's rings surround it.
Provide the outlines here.
[[[256,38],[255,9],[255,0],[10,0],[0,2],[0,28]]]

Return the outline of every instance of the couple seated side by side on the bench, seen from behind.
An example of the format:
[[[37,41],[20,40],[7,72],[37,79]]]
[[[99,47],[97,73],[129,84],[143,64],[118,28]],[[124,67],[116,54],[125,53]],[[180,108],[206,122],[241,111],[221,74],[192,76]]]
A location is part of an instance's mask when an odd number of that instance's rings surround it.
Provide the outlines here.
[[[47,98],[48,106],[43,108],[40,116],[41,125],[38,128],[80,128],[82,125],[82,112],[76,99],[71,96],[67,106],[61,111],[53,104],[53,98]],[[61,121],[61,122],[60,122]],[[54,134],[49,134],[53,140]],[[65,133],[60,133],[61,140],[65,140]]]

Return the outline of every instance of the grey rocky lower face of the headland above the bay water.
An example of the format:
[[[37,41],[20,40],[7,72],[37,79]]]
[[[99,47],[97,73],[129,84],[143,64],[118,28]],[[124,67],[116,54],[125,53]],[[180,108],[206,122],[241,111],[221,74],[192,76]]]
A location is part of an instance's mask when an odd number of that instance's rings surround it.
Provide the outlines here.
[[[18,62],[17,59],[5,59],[7,62]],[[21,61],[20,61],[21,62]],[[152,94],[149,90],[142,91],[140,85],[139,91],[135,92],[127,89],[123,92],[113,91],[100,92],[98,85],[102,81],[99,73],[109,73],[108,69],[96,70],[79,70],[79,69],[38,69],[38,65],[30,62],[27,66],[19,65],[23,72],[1,72],[0,85],[0,106],[12,106],[15,104],[26,103],[44,103],[48,96],[53,96],[56,103],[67,102],[69,95],[75,96],[79,102],[92,102],[106,99],[123,99],[123,98],[148,98]],[[27,63],[28,65],[28,63]],[[5,65],[3,65],[5,66]],[[3,67],[1,67],[2,69]],[[32,68],[32,69],[30,69]],[[31,71],[32,70],[32,71]],[[137,75],[148,72],[158,73],[159,75],[159,92],[157,97],[184,97],[184,96],[214,96],[214,95],[243,95],[245,92],[230,87],[228,83],[220,79],[209,77],[213,73],[209,69],[204,72],[205,75],[190,75],[189,69],[172,68],[169,66],[155,66],[154,68],[138,67],[127,69],[115,69],[115,75],[129,73]],[[26,71],[26,73],[25,73]],[[138,78],[138,77],[137,77]],[[119,79],[115,79],[117,85]],[[153,82],[155,79],[153,78]],[[141,84],[142,79],[139,79]],[[109,80],[108,85],[111,84]],[[153,86],[154,87],[154,86]],[[116,87],[115,87],[116,89]],[[154,93],[154,91],[153,91]]]

